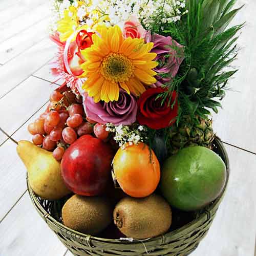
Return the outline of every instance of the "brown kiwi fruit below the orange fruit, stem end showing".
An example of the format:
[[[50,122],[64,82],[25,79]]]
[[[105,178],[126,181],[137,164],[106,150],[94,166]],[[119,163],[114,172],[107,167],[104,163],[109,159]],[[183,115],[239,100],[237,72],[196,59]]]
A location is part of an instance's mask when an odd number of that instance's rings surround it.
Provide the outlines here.
[[[114,223],[126,237],[157,237],[169,230],[172,209],[156,194],[145,198],[125,197],[114,209]]]

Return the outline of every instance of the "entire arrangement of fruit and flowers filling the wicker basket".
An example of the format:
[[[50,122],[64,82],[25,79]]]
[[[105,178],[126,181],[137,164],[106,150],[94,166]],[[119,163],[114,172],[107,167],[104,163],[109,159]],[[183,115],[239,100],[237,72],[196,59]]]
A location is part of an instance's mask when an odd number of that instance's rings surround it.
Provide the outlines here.
[[[50,69],[63,83],[17,152],[34,193],[64,199],[64,225],[147,239],[221,195],[211,113],[237,71],[234,2],[54,1]]]

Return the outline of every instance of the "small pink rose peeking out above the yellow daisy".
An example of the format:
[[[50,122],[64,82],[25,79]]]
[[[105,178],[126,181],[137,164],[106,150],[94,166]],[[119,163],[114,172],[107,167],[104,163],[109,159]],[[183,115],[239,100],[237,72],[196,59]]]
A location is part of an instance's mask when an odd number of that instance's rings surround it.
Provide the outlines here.
[[[144,38],[146,30],[143,29],[139,20],[135,16],[131,16],[129,20],[124,23],[123,26],[123,36],[124,38]]]

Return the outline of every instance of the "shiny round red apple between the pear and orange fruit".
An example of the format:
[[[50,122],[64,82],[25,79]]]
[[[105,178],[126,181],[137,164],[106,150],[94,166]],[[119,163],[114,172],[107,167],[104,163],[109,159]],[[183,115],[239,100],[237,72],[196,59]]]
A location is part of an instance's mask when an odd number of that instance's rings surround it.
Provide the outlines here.
[[[102,194],[111,179],[111,146],[91,135],[83,135],[64,153],[61,175],[67,187],[81,196]]]

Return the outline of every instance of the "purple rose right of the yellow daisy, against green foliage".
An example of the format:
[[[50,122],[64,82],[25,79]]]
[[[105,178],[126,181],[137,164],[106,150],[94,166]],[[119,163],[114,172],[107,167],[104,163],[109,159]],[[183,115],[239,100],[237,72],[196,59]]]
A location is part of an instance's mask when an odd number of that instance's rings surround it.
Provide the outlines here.
[[[164,83],[169,82],[176,76],[180,68],[181,62],[184,59],[183,46],[177,41],[173,40],[170,36],[162,36],[154,34],[147,35],[147,41],[154,42],[154,47],[151,52],[155,52],[158,61],[158,66],[154,69],[159,74],[169,74],[168,76],[156,75],[156,86],[162,86]]]

